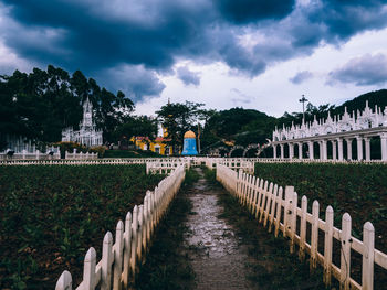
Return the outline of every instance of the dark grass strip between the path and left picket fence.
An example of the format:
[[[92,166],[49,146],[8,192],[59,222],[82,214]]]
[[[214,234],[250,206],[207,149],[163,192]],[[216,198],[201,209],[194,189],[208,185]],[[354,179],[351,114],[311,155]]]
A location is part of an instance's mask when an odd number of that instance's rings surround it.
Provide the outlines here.
[[[169,213],[159,224],[156,238],[145,265],[136,279],[138,290],[192,289],[195,273],[184,248],[185,222],[191,212],[191,202],[185,195],[199,174],[190,170],[185,183],[170,205]]]

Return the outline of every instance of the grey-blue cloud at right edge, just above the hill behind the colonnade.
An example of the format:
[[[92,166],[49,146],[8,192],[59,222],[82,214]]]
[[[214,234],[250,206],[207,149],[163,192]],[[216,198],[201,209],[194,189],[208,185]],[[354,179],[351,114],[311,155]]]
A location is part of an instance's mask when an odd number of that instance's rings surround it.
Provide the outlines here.
[[[330,73],[330,85],[353,83],[356,86],[383,85],[387,83],[387,56],[384,54],[353,58]]]

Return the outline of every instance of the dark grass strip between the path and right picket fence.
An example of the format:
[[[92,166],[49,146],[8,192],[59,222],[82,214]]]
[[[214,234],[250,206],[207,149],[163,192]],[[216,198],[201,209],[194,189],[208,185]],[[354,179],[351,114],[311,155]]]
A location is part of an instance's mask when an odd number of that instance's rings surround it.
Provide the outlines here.
[[[215,171],[206,170],[212,186],[221,186],[215,180]],[[287,240],[275,238],[244,208],[237,198],[223,191],[219,203],[224,208],[221,218],[227,219],[249,246],[247,276],[257,289],[325,289],[322,269],[310,273],[306,262],[289,253]]]

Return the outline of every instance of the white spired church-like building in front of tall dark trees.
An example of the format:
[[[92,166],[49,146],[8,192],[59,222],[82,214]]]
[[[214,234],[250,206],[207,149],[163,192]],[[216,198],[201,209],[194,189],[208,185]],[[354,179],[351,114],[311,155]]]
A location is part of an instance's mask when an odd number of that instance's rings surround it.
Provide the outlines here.
[[[74,131],[72,127],[64,129],[62,141],[73,141],[88,147],[103,143],[102,130],[97,130],[93,121],[93,105],[88,98],[83,103],[83,119],[80,122],[80,130]]]

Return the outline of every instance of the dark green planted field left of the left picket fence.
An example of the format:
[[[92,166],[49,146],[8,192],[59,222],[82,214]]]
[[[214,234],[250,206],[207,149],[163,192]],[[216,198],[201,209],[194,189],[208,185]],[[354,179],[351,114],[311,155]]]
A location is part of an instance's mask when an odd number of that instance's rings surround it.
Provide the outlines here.
[[[84,255],[161,175],[145,165],[0,168],[0,289],[53,289],[63,270],[80,282]]]

